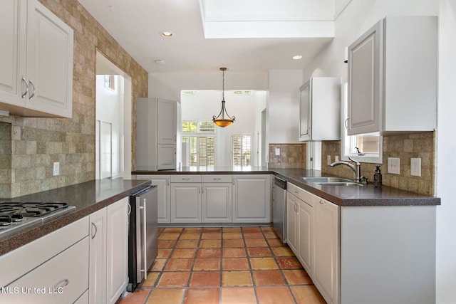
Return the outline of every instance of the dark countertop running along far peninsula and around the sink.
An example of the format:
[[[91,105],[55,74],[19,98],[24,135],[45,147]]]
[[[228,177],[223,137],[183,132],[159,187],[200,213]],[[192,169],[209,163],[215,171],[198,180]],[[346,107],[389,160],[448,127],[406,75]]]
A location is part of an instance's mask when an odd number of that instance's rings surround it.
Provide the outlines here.
[[[292,184],[333,202],[339,206],[424,206],[440,205],[435,196],[416,194],[391,187],[375,188],[373,184],[363,187],[321,186],[306,182],[302,177],[331,177],[318,170],[278,169],[266,167],[215,167],[209,169],[182,168],[177,170],[147,171],[137,170],[132,174],[275,174]]]

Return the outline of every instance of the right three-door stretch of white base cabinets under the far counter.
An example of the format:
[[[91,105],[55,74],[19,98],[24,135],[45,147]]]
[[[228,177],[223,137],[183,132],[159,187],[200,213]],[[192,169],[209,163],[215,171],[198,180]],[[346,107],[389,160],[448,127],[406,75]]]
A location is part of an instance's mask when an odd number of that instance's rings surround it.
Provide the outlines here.
[[[270,223],[270,174],[138,174],[158,186],[158,223]]]

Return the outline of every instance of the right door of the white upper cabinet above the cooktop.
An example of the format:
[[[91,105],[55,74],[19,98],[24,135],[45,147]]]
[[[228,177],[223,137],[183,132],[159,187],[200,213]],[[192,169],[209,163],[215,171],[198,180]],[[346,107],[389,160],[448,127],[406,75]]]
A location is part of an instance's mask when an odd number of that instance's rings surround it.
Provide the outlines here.
[[[36,0],[28,0],[26,107],[71,117],[73,29]]]

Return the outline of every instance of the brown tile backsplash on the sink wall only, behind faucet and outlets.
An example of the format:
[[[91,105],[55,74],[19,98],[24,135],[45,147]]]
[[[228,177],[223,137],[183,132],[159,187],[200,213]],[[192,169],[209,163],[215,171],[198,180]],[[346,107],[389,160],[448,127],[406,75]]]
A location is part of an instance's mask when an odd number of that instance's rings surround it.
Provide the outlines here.
[[[435,195],[435,132],[419,132],[383,136],[383,164],[361,163],[361,174],[373,181],[375,165],[380,165],[383,185],[419,194]],[[354,174],[346,166],[329,167],[327,155],[334,161],[341,156],[341,142],[323,142],[321,171],[353,179]],[[388,157],[400,158],[400,174],[388,173]],[[421,158],[421,177],[410,175],[410,159]]]

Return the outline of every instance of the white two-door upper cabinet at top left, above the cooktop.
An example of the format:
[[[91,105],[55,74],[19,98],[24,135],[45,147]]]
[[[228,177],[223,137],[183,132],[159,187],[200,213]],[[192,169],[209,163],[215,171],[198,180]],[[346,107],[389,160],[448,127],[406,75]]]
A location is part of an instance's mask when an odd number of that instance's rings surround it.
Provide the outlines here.
[[[1,1],[0,110],[71,117],[73,29],[36,0]]]

